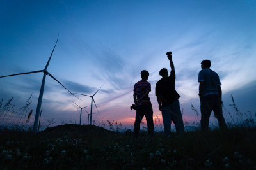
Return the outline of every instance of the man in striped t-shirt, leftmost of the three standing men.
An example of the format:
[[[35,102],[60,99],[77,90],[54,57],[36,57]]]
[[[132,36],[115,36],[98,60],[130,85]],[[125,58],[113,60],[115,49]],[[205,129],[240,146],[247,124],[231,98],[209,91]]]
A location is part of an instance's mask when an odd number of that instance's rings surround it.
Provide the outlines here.
[[[146,70],[141,71],[141,81],[134,85],[133,99],[136,105],[136,118],[134,123],[134,137],[138,137],[140,131],[140,123],[142,118],[146,117],[148,125],[148,134],[150,136],[154,133],[153,124],[153,109],[150,98],[148,97],[151,91],[151,84],[147,81],[149,73]]]

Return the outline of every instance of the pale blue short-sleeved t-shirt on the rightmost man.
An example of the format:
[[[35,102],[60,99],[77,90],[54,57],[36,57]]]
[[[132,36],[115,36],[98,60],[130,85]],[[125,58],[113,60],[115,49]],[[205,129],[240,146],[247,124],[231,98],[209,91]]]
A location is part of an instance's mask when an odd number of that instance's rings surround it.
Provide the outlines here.
[[[202,69],[198,74],[198,82],[204,81],[204,92],[202,96],[209,94],[219,94],[218,85],[221,85],[220,78],[215,71],[211,69]]]

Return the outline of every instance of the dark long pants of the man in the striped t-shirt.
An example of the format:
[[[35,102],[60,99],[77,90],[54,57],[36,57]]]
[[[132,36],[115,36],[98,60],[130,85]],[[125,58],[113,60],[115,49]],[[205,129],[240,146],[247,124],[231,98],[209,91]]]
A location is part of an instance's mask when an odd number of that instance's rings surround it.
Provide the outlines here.
[[[154,133],[154,123],[153,123],[153,109],[151,104],[145,104],[141,106],[137,106],[136,117],[134,122],[134,136],[138,137],[140,131],[140,123],[142,118],[146,117],[147,125],[148,125],[148,134],[150,136]]]

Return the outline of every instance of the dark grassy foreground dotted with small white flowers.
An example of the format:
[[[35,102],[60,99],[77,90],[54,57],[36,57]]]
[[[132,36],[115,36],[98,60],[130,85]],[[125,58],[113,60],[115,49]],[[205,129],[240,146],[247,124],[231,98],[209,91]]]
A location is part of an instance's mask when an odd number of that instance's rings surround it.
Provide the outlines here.
[[[0,132],[0,169],[255,169],[255,128],[150,138],[95,125]]]

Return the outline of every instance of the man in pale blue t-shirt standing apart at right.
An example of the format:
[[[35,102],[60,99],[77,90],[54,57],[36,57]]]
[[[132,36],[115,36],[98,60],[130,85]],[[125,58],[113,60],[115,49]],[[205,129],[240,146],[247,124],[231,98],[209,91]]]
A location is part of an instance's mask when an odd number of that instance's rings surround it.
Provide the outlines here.
[[[209,129],[209,118],[212,110],[219,122],[220,128],[225,129],[227,127],[221,107],[222,92],[220,78],[210,67],[211,61],[203,60],[201,62],[202,70],[198,74],[202,131]]]

